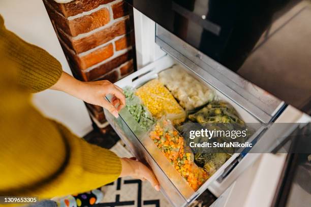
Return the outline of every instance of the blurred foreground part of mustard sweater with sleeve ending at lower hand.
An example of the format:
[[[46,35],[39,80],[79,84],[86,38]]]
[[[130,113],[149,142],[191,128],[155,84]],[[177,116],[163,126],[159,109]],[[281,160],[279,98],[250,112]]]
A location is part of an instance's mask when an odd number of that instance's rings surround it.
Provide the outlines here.
[[[1,46],[0,65],[6,70],[0,70],[0,196],[51,198],[117,179],[117,155],[88,144],[31,105],[29,92],[17,84],[18,70]]]

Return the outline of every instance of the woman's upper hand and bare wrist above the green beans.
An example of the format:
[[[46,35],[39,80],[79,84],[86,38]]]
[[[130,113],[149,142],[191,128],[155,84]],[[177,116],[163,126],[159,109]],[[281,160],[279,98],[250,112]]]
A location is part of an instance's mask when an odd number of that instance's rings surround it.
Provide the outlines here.
[[[60,79],[51,89],[64,91],[87,103],[101,106],[116,118],[119,116],[118,112],[126,104],[122,89],[107,80],[81,82],[63,72]],[[107,94],[113,95],[111,103],[105,98]]]

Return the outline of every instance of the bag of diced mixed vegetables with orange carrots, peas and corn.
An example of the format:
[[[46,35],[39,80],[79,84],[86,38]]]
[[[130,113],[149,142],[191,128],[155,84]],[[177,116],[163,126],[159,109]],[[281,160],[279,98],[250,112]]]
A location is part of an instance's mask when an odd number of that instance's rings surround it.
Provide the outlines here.
[[[208,179],[207,172],[194,163],[191,149],[185,146],[183,137],[169,120],[162,118],[157,121],[149,137],[193,190]]]

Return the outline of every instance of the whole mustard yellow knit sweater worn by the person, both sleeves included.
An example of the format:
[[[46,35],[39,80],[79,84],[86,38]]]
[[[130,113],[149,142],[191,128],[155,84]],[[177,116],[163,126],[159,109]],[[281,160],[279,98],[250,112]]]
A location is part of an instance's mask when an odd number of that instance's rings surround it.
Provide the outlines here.
[[[30,93],[51,87],[61,72],[45,50],[8,31],[0,15],[0,196],[85,192],[120,174],[114,153],[86,143],[30,103]]]

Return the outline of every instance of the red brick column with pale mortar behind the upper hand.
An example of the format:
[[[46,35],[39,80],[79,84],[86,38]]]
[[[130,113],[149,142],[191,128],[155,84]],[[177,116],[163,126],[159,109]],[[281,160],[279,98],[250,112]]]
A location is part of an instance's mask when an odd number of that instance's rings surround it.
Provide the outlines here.
[[[120,0],[43,0],[73,75],[82,81],[112,83],[134,71],[135,47],[127,3]],[[103,109],[86,104],[104,127]]]

